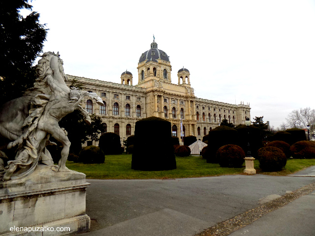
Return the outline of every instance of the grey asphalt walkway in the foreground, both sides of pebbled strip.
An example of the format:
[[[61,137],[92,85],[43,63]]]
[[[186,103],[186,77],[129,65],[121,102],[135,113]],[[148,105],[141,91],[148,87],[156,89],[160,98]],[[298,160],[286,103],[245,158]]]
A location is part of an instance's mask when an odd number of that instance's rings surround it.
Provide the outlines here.
[[[91,232],[82,236],[194,236],[264,202],[315,182],[301,176],[225,175],[168,180],[89,179]],[[234,233],[315,235],[315,194],[270,212]],[[281,230],[282,229],[282,230]],[[297,234],[299,232],[299,234]]]

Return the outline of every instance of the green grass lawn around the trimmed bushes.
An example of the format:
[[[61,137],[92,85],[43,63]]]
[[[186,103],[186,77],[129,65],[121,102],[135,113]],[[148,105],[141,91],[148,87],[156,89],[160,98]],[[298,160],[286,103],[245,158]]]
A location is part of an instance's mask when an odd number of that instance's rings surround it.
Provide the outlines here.
[[[315,159],[289,159],[285,168],[278,172],[262,172],[259,162],[255,162],[257,173],[271,175],[292,174],[298,170],[315,165]],[[243,168],[221,168],[219,164],[210,164],[202,157],[176,157],[177,169],[164,171],[141,171],[131,169],[131,154],[105,156],[104,164],[82,164],[67,161],[69,169],[83,172],[87,178],[94,179],[163,179],[243,174]]]

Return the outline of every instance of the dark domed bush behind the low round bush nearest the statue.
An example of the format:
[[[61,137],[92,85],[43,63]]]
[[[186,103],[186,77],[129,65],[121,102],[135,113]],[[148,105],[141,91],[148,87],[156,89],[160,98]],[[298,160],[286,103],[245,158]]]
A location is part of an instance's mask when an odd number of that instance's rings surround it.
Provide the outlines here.
[[[103,150],[105,155],[118,155],[123,152],[120,136],[111,132],[100,135],[98,147]]]

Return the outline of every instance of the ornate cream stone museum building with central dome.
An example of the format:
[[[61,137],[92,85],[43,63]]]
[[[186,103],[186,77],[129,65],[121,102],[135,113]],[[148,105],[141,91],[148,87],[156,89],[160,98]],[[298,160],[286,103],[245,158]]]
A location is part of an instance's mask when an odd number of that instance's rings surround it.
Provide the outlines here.
[[[101,117],[103,133],[116,133],[123,141],[134,134],[136,121],[156,116],[171,122],[173,136],[181,137],[182,121],[183,136],[194,135],[202,140],[223,119],[238,125],[251,117],[250,105],[244,102],[234,105],[196,98],[194,89],[190,87],[187,68],[178,70],[178,83],[173,84],[169,57],[158,49],[155,41],[148,51],[141,54],[137,69],[137,85],[133,85],[133,75],[127,70],[121,74],[121,83],[68,75],[68,85],[75,79],[85,90],[96,93],[103,100],[103,106],[88,98],[84,101],[89,113]],[[148,132],[153,131],[148,129]]]

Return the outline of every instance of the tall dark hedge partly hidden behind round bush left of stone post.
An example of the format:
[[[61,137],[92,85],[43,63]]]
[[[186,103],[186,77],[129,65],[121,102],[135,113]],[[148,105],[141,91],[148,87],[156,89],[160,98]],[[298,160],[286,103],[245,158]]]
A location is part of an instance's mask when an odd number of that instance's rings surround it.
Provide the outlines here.
[[[227,144],[238,144],[238,132],[227,126],[219,126],[214,130],[209,131],[209,143],[207,155],[207,163],[219,163],[217,159],[217,151],[221,146]]]

